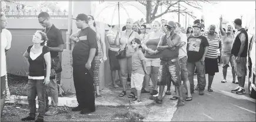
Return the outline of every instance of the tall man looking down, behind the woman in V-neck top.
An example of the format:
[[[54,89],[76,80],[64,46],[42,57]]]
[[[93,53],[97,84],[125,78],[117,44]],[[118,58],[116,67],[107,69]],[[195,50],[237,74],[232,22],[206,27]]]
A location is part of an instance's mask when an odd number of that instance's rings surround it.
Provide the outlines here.
[[[43,32],[46,33],[46,36],[48,38],[46,46],[49,47],[52,62],[59,61],[59,52],[63,51],[63,44],[64,41],[62,39],[62,32],[58,28],[56,28],[49,17],[49,14],[47,12],[41,12],[38,15],[38,22],[41,26],[45,27]],[[53,64],[53,63],[52,63]],[[61,64],[60,64],[61,65]],[[53,65],[52,65],[53,67]],[[61,71],[55,71],[56,72],[56,78],[60,80]],[[47,85],[49,89],[49,93],[46,93],[46,116],[51,116],[58,113],[58,85],[56,83],[56,79],[51,79],[49,85]],[[48,107],[49,100],[48,95],[51,96],[51,107]]]

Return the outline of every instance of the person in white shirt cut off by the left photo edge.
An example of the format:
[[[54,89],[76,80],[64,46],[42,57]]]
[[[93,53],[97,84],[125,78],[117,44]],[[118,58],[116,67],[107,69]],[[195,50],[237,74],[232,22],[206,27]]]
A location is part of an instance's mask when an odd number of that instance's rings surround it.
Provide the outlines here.
[[[4,109],[5,97],[6,97],[6,56],[5,52],[11,47],[12,34],[9,30],[5,29],[7,25],[6,17],[1,12],[1,115]]]

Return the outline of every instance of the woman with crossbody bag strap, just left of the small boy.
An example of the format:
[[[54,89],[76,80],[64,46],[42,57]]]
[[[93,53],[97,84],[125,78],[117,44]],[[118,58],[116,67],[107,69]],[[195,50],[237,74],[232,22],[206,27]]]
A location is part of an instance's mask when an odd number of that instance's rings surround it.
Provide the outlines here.
[[[123,90],[119,94],[120,97],[125,96],[126,93],[126,86],[127,86],[127,79],[128,76],[131,78],[131,71],[132,71],[132,53],[134,53],[134,49],[131,46],[131,40],[134,38],[139,39],[139,34],[137,32],[134,32],[132,30],[132,24],[134,23],[134,20],[129,18],[126,22],[126,30],[120,32],[120,38],[115,40],[115,45],[120,46],[120,50],[124,50],[125,46],[127,46],[126,50],[126,57],[119,60],[120,64],[120,70],[121,70],[121,81],[122,81],[122,87]],[[118,33],[119,34],[119,33]],[[134,96],[134,93],[131,92],[131,95],[129,97]]]

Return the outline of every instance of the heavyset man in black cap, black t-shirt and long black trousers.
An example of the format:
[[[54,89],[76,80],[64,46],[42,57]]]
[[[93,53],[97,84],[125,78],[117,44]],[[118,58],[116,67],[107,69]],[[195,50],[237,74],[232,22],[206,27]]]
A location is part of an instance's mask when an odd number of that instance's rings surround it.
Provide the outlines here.
[[[76,41],[72,51],[72,66],[78,106],[72,111],[88,114],[95,111],[95,90],[90,69],[98,45],[96,33],[88,25],[88,16],[80,13],[74,19],[79,30],[71,34],[69,38]]]

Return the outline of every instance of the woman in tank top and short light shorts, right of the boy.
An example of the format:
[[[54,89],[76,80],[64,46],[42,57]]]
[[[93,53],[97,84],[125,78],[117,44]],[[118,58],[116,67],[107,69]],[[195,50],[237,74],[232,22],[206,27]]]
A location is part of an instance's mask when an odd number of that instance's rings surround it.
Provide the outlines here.
[[[160,58],[158,58],[158,51],[157,46],[162,36],[162,32],[160,31],[161,23],[155,21],[152,24],[152,30],[154,32],[148,33],[147,37],[145,37],[145,41],[142,44],[142,47],[145,49],[145,58],[146,58],[146,65],[147,65],[147,72],[149,75],[145,75],[145,81],[142,86],[141,93],[149,93],[148,85],[149,80],[151,78],[152,83],[154,85],[154,89],[151,95],[157,95],[158,93],[158,85],[157,85],[157,76],[158,76],[158,69],[160,65]]]

